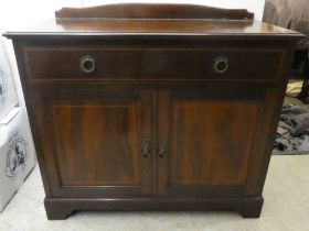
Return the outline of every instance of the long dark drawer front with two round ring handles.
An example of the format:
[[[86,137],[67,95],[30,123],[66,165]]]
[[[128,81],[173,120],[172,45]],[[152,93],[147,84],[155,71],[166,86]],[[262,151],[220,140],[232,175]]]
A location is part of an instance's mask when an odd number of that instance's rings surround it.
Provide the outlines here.
[[[268,80],[280,50],[25,47],[30,81]]]

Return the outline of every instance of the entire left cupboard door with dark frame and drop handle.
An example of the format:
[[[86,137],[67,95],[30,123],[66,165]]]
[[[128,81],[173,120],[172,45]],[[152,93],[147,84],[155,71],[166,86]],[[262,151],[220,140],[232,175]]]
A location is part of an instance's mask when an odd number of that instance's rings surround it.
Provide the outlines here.
[[[50,168],[53,196],[151,194],[151,91],[34,92],[39,155]]]

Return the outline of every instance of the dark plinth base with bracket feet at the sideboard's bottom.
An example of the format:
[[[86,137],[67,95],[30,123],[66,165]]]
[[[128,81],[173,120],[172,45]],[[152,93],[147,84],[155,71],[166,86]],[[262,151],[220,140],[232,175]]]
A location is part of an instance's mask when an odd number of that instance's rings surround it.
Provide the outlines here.
[[[259,216],[263,197],[148,197],[148,198],[46,198],[44,205],[50,220],[64,220],[76,211],[140,211],[140,210],[236,210],[244,218]],[[207,216],[207,213],[205,213]]]

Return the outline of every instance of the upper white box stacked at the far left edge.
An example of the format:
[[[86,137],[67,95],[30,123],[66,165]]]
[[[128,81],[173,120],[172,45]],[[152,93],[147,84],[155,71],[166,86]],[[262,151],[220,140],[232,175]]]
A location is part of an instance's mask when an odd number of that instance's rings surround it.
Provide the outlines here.
[[[2,38],[0,38],[0,120],[18,105],[11,66]]]

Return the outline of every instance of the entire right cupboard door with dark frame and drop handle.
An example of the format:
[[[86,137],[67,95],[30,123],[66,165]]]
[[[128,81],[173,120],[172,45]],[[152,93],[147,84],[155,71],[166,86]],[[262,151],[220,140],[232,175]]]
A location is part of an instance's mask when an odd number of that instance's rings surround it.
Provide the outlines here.
[[[259,128],[270,125],[273,110],[265,106],[267,90],[245,89],[214,86],[159,92],[160,196],[258,194],[265,157],[259,138],[267,135]]]

